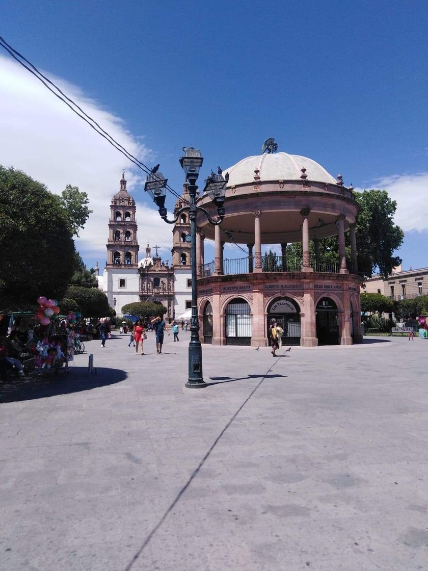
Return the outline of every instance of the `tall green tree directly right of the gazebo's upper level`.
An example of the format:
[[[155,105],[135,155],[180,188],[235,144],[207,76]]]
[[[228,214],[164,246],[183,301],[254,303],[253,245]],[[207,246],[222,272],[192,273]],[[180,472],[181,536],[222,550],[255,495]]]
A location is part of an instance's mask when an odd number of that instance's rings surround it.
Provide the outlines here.
[[[386,278],[402,260],[393,253],[403,242],[404,234],[394,224],[397,202],[391,200],[386,190],[355,192],[360,206],[357,220],[358,270],[367,278],[375,267]]]

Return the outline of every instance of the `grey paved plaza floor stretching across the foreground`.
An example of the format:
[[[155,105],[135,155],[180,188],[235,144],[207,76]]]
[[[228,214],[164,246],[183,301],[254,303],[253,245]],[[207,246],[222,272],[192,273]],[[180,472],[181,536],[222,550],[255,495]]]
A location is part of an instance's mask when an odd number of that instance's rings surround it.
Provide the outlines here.
[[[2,571],[428,569],[428,340],[188,340],[0,385]]]

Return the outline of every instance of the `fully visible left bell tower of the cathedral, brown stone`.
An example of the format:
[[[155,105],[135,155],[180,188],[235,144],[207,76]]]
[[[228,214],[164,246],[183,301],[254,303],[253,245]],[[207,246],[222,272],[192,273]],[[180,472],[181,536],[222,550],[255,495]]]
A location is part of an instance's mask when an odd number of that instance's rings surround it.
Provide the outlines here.
[[[111,199],[108,222],[106,268],[138,268],[137,223],[135,200],[126,190],[125,173],[122,173],[120,190]]]

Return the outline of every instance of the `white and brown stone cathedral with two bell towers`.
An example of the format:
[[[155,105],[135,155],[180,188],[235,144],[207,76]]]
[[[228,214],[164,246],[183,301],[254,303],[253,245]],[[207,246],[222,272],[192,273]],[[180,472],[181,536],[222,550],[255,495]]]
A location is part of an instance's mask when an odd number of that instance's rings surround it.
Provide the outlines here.
[[[188,200],[188,186],[184,184],[183,196],[177,200],[174,212]],[[163,221],[159,219],[159,224]],[[155,254],[147,244],[146,256],[138,260],[135,200],[126,188],[125,174],[120,180],[120,190],[111,199],[108,222],[107,260],[103,275],[99,275],[98,264],[95,275],[99,288],[106,293],[108,303],[122,315],[122,307],[135,301],[159,301],[164,305],[165,319],[171,321],[191,308],[191,244],[186,236],[190,234],[187,214],[181,215],[172,230],[172,261]]]

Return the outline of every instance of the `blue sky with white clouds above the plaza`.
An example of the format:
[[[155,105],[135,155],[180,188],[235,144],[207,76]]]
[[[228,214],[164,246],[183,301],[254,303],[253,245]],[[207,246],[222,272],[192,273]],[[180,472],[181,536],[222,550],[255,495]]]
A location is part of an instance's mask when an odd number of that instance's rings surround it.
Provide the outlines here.
[[[405,231],[403,268],[428,266],[425,0],[0,0],[0,10],[0,35],[128,151],[160,163],[176,191],[183,146],[200,148],[202,179],[273,136],[279,151],[341,172],[345,185],[385,188]],[[143,172],[2,49],[0,110],[0,164],[53,192],[87,192],[94,212],[76,248],[88,267],[104,266],[122,168],[140,258],[150,242],[171,259],[172,227],[144,195]]]

